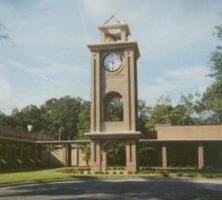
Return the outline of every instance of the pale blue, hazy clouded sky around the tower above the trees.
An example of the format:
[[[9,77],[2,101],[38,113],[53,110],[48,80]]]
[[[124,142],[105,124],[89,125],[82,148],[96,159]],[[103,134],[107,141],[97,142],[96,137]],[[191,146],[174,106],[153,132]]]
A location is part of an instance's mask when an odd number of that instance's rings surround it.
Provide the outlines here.
[[[138,96],[153,105],[210,85],[209,57],[218,44],[221,0],[0,0],[0,111],[50,98],[90,100],[90,53],[97,26],[113,14],[136,40]]]

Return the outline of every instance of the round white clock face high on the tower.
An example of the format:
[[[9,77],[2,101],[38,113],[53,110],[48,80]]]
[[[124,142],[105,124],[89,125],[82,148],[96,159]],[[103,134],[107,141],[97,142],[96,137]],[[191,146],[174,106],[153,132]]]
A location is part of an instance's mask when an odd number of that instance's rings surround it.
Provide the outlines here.
[[[122,64],[121,56],[117,53],[110,53],[104,58],[104,68],[108,71],[116,71]]]

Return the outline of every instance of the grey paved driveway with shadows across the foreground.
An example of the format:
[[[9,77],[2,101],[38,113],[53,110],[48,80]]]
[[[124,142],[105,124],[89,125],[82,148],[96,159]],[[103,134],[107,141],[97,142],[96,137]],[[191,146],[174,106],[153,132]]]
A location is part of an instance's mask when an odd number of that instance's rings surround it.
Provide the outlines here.
[[[58,199],[146,199],[192,200],[206,195],[222,195],[222,181],[170,179],[58,181],[0,188],[4,200]]]

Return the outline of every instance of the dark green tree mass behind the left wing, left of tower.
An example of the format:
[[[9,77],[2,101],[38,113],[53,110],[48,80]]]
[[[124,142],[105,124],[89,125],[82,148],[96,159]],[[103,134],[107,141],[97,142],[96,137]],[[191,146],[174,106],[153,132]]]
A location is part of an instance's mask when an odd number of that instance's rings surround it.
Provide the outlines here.
[[[28,105],[21,110],[14,109],[10,116],[0,113],[0,126],[27,130],[27,125],[32,125],[33,131],[56,137],[60,131],[61,139],[82,138],[89,130],[89,107],[89,102],[81,98],[52,98],[40,108]]]

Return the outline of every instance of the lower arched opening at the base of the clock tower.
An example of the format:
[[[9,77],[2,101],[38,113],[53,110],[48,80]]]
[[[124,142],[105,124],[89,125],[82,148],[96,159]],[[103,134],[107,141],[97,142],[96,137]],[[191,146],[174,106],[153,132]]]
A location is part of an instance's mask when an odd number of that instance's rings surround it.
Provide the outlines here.
[[[126,148],[123,143],[111,143],[106,147],[106,159],[108,167],[126,166]]]

